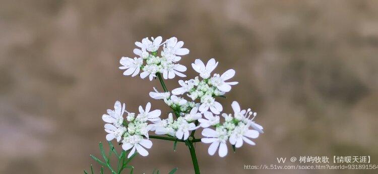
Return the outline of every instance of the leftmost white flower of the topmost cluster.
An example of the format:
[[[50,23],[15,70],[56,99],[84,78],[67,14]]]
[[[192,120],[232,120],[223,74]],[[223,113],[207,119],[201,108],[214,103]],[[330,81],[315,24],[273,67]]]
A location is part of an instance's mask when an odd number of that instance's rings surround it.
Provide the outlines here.
[[[119,67],[121,70],[126,70],[123,72],[123,75],[129,76],[132,75],[132,77],[139,74],[141,70],[141,66],[143,65],[143,59],[134,57],[134,59],[131,59],[130,57],[122,57],[119,60],[119,63],[123,66]]]

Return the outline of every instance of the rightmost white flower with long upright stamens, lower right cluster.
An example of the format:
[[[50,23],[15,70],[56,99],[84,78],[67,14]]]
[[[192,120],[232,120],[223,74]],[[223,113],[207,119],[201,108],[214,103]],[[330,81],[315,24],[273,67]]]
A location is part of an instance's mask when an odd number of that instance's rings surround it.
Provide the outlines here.
[[[234,111],[234,118],[239,121],[245,122],[245,124],[250,125],[250,127],[254,128],[255,130],[259,131],[260,133],[264,133],[263,127],[259,124],[256,124],[253,120],[256,117],[257,113],[256,112],[251,112],[250,109],[248,108],[247,110],[241,110],[240,105],[237,101],[233,101],[231,104],[232,110]],[[248,115],[247,115],[248,114]],[[250,115],[254,115],[254,117],[249,120]]]

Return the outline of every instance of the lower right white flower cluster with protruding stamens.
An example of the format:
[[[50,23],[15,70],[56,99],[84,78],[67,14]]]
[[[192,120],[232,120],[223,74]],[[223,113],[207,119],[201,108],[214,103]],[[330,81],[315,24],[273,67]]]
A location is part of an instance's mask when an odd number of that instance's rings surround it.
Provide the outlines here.
[[[263,127],[253,122],[257,113],[252,112],[251,109],[240,110],[239,103],[234,101],[231,104],[234,111],[232,114],[222,113],[224,122],[220,124],[220,118],[218,115],[213,115],[211,112],[205,112],[206,119],[199,119],[200,126],[205,128],[202,131],[202,135],[206,138],[202,138],[203,143],[211,143],[208,153],[214,155],[219,147],[218,154],[220,157],[227,155],[227,141],[239,148],[246,142],[250,145],[255,145],[250,139],[259,137],[259,133],[263,133]],[[254,115],[253,118],[250,118]],[[214,129],[208,127],[213,126]],[[249,128],[253,129],[249,129]]]

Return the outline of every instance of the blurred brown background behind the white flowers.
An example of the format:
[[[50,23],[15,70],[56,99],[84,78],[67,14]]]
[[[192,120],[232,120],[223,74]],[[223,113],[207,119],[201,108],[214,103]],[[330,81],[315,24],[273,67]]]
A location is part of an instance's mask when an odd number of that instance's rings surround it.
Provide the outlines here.
[[[135,41],[176,36],[190,54],[240,83],[220,99],[258,112],[265,134],[227,157],[197,144],[203,173],[376,173],[376,170],[245,170],[277,157],[365,156],[378,163],[377,1],[2,1],[0,173],[82,173],[105,142],[101,115],[115,100],[137,110],[159,82],[122,76]],[[166,82],[178,86],[177,78]],[[153,100],[163,116],[169,111]],[[230,150],[230,149],[229,149]],[[188,149],[154,140],[135,173],[178,167]],[[94,164],[99,169],[98,164]]]

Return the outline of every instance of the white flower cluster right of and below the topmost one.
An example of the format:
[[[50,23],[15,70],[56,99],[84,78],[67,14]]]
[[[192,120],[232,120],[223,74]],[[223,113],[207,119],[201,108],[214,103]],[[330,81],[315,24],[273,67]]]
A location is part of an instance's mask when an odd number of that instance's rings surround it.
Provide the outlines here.
[[[200,77],[203,79],[200,80],[199,77],[196,77],[187,81],[179,80],[178,84],[181,87],[173,89],[172,94],[188,93],[187,96],[193,101],[200,99],[199,110],[202,113],[210,109],[213,113],[219,114],[223,107],[218,101],[215,101],[214,96],[224,95],[231,90],[231,85],[236,85],[238,82],[225,82],[235,75],[235,71],[232,69],[227,70],[222,75],[214,74],[210,77],[217,65],[218,62],[215,62],[215,59],[210,59],[206,66],[201,60],[197,59],[192,67],[200,73]]]

